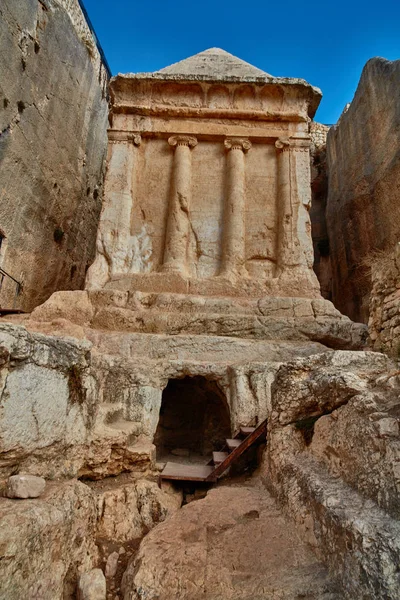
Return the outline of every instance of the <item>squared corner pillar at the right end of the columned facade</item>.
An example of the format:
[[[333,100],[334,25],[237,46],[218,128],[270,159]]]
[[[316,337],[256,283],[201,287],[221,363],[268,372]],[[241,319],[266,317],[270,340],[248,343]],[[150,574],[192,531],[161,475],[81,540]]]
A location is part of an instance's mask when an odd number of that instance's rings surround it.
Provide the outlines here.
[[[278,236],[276,276],[293,267],[312,268],[308,210],[311,203],[308,139],[281,138],[278,158]]]

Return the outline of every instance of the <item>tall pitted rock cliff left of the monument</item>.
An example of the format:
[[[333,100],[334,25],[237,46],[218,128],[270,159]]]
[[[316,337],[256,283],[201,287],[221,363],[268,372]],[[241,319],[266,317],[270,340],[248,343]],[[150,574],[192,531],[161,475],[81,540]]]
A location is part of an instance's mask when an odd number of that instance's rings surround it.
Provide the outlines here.
[[[94,258],[108,73],[77,0],[4,0],[0,39],[0,307],[31,310]]]

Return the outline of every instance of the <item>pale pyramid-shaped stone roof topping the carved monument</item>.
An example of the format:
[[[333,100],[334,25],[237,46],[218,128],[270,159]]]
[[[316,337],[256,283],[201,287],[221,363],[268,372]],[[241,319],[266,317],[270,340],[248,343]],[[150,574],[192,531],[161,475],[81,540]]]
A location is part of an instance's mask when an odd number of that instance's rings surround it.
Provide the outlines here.
[[[237,77],[238,79],[271,77],[269,73],[233,56],[221,48],[209,48],[156,71],[163,75],[200,76],[207,79]]]

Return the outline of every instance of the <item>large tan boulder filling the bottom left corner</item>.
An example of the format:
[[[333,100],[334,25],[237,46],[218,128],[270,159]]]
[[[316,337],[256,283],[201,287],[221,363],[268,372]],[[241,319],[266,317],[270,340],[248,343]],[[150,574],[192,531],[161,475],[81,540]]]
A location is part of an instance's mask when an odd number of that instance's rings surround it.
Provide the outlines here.
[[[95,499],[77,481],[48,484],[39,499],[0,498],[1,597],[72,600],[97,560],[95,532]]]

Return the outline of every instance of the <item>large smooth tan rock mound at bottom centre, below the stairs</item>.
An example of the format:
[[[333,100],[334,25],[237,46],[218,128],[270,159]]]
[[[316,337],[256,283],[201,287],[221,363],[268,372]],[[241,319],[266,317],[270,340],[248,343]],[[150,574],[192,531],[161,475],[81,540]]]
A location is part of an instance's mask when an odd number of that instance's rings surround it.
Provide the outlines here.
[[[124,600],[340,600],[326,568],[261,485],[225,485],[153,529]]]

